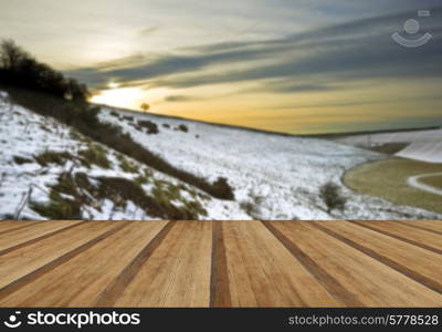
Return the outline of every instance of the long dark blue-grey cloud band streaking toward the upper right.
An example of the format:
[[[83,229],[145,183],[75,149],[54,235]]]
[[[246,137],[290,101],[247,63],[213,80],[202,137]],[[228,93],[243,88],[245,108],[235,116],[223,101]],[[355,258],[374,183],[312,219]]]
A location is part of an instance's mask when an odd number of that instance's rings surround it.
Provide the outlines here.
[[[322,82],[442,77],[442,7],[422,19],[422,31],[433,34],[429,44],[410,50],[391,39],[415,15],[378,15],[278,39],[206,44],[180,54],[134,55],[69,74],[92,84],[119,79],[176,89],[282,80],[285,85],[263,84],[285,93],[336,89]]]

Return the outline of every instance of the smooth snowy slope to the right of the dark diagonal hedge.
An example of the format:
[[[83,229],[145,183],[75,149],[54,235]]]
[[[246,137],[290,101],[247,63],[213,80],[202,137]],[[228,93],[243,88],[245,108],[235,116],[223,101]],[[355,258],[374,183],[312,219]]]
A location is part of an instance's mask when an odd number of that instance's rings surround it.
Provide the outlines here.
[[[120,126],[134,141],[177,167],[210,179],[228,178],[235,189],[235,200],[253,218],[436,217],[432,212],[356,194],[341,184],[345,170],[383,158],[380,154],[328,141],[251,132],[109,107],[103,107],[99,118]],[[158,133],[149,134],[139,125],[143,122],[154,123]],[[318,195],[328,181],[338,184],[348,197],[343,212],[328,214]]]

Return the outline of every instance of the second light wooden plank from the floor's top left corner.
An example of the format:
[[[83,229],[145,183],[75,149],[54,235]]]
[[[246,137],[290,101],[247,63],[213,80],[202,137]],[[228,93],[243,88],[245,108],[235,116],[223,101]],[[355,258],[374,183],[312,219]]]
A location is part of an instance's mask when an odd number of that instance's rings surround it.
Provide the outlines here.
[[[28,227],[10,230],[7,235],[0,236],[0,255],[4,255],[14,248],[40,241],[64,228],[78,225],[80,222],[82,221],[43,221],[39,224],[31,224]]]

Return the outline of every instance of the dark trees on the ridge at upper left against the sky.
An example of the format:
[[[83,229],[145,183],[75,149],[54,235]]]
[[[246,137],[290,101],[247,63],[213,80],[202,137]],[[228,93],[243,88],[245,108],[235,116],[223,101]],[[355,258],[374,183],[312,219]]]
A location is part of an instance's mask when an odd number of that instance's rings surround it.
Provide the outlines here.
[[[3,40],[0,43],[0,84],[41,91],[80,102],[85,102],[91,95],[85,84],[65,77],[50,65],[36,61],[13,40]]]

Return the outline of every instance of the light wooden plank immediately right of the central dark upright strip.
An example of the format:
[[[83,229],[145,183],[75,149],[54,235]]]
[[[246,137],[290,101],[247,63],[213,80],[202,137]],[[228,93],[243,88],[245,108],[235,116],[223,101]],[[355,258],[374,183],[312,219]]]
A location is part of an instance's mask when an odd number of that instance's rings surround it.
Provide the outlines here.
[[[344,305],[260,221],[224,221],[233,307]]]

